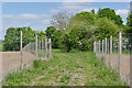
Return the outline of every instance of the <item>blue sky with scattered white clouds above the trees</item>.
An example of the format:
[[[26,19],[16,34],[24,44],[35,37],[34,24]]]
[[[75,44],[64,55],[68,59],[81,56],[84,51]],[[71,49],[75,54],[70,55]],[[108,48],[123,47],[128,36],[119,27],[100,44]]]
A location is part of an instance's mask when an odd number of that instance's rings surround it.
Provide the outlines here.
[[[15,0],[14,0],[15,1]],[[65,0],[66,1],[66,0]],[[73,0],[70,0],[73,1]],[[44,31],[51,25],[52,15],[58,11],[80,12],[90,11],[99,8],[114,9],[121,15],[123,23],[127,23],[130,2],[2,2],[2,34],[10,26],[22,28],[31,26],[33,30]],[[105,1],[105,0],[102,0]],[[121,1],[121,0],[120,0]],[[123,0],[122,0],[123,1]],[[3,38],[3,36],[2,36]]]

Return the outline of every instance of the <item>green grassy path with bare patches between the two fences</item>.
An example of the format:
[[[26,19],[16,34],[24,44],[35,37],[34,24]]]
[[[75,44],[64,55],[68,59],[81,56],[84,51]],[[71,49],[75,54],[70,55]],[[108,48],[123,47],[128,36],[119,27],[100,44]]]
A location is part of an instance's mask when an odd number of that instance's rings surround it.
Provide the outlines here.
[[[53,50],[50,61],[35,61],[21,73],[10,73],[3,86],[123,86],[118,74],[91,52]],[[40,65],[38,65],[40,64]]]

